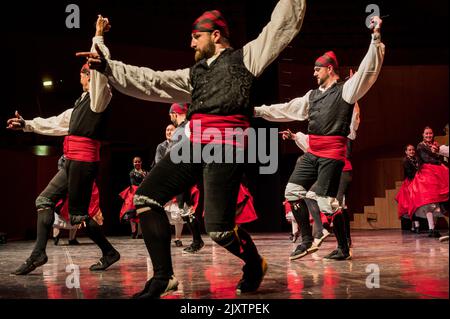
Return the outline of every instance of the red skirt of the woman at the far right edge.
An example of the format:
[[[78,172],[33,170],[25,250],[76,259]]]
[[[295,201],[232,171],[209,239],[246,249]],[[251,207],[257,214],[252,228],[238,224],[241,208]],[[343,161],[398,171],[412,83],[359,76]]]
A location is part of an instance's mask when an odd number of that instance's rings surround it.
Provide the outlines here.
[[[448,201],[448,168],[444,165],[423,164],[409,185],[411,201],[408,214],[421,206]]]

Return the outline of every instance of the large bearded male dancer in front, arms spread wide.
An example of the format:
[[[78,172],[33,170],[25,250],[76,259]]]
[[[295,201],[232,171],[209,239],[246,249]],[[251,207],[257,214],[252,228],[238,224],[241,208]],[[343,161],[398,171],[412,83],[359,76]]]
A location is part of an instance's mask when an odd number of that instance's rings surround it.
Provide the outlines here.
[[[135,204],[154,271],[138,297],[158,298],[176,289],[170,225],[162,207],[200,177],[205,190],[206,231],[216,243],[245,262],[236,292],[258,289],[267,263],[249,234],[234,223],[244,166],[205,159],[195,163],[194,158],[199,154],[193,154],[193,149],[211,146],[207,134],[202,134],[209,128],[220,130],[221,144],[216,145],[221,145],[222,152],[236,149],[233,137],[224,136],[229,131],[226,128],[249,127],[253,114],[249,103],[252,83],[297,35],[305,9],[305,0],[280,0],[261,34],[238,50],[230,46],[228,25],[222,14],[217,10],[207,11],[192,28],[191,47],[197,63],[183,70],[156,72],[110,60],[101,52],[80,53],[90,58],[91,67],[103,72],[110,84],[127,95],[151,101],[190,103],[187,118],[191,135],[183,143],[190,151],[183,154],[188,156],[187,160],[176,164],[170,156],[176,152],[172,148],[171,154],[153,168],[136,192]],[[215,139],[215,142],[219,141]]]

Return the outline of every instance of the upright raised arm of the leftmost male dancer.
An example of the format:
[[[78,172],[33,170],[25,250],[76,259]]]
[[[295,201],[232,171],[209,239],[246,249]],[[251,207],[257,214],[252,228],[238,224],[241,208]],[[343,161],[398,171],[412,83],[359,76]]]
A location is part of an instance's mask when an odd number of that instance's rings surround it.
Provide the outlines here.
[[[106,59],[111,58],[108,48],[105,46],[103,35],[111,28],[108,18],[98,16],[95,24],[95,36],[92,39],[91,52],[97,52],[96,47]],[[91,110],[96,113],[103,112],[111,101],[112,93],[108,85],[108,78],[96,70],[91,70],[89,92],[91,95]]]

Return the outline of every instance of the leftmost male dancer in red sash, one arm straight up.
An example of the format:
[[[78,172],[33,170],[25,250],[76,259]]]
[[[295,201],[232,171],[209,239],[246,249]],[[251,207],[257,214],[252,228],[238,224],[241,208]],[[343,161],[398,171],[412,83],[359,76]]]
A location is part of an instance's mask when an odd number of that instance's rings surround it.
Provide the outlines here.
[[[96,23],[93,47],[101,47],[109,56],[103,44],[103,34],[110,24],[99,15]],[[89,269],[105,270],[120,259],[120,254],[106,239],[97,222],[89,217],[88,208],[92,185],[97,175],[100,161],[100,141],[98,140],[104,118],[104,111],[111,100],[111,90],[107,79],[97,71],[89,70],[87,64],[80,71],[83,94],[73,108],[47,119],[34,118],[25,121],[18,112],[9,119],[9,129],[35,132],[43,135],[66,136],[64,140],[64,169],[59,170],[44,191],[36,199],[38,212],[37,239],[31,256],[13,274],[26,275],[44,265],[47,261],[45,248],[48,233],[54,221],[56,203],[68,194],[69,214],[72,225],[86,225],[89,238],[102,250],[103,256]]]

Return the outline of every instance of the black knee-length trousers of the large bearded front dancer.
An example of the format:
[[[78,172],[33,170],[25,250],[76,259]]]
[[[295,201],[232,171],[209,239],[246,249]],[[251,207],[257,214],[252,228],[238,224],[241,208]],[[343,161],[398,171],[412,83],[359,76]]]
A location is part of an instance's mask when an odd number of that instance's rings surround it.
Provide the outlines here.
[[[190,189],[196,183],[203,183],[206,231],[232,231],[235,226],[237,197],[244,164],[207,163],[204,159],[200,163],[194,163],[193,154],[195,151],[198,152],[198,149],[194,149],[190,141],[184,143],[189,144],[186,147],[189,147],[191,152],[190,162],[175,163],[170,153],[163,157],[136,191],[134,201],[136,208],[143,206],[161,208],[174,196]],[[203,151],[205,146],[198,145],[198,147]],[[232,146],[221,145],[222,154],[225,148],[229,147]]]

